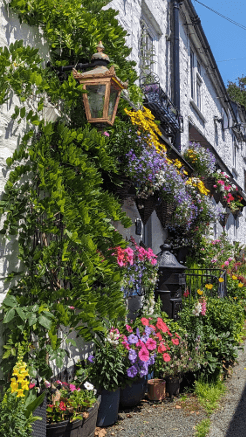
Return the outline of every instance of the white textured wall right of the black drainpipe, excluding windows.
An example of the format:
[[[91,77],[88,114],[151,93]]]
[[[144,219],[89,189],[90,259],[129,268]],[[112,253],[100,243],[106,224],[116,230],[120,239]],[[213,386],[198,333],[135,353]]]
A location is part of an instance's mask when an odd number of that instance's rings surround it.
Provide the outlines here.
[[[221,118],[222,115],[222,101],[221,93],[214,87],[210,70],[205,70],[201,65],[202,76],[202,116],[194,109],[191,104],[191,79],[190,79],[190,37],[188,35],[189,27],[184,26],[182,19],[180,19],[180,94],[181,94],[181,114],[184,117],[184,133],[182,134],[181,144],[182,149],[188,146],[189,143],[189,123],[192,123],[201,133],[207,138],[208,142],[216,149],[222,160],[225,162],[231,172],[232,166],[232,146],[233,146],[233,132],[231,129],[222,129],[221,123],[215,123],[214,117]],[[194,50],[194,45],[193,45]],[[197,52],[198,53],[198,52]],[[239,147],[237,156],[237,175],[235,180],[244,188],[244,169],[246,169],[245,161],[242,157],[242,150]],[[229,217],[227,226],[225,228],[228,237],[231,241],[237,240],[246,244],[246,223],[245,211],[237,221],[234,220],[232,214]],[[222,227],[217,224],[217,236],[222,232]]]

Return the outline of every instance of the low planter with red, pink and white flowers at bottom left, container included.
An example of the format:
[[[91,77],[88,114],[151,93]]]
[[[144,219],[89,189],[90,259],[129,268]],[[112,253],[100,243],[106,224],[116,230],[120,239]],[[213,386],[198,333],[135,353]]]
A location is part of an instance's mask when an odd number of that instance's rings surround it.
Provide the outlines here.
[[[47,437],[89,437],[94,435],[100,397],[95,397],[94,386],[83,387],[65,381],[50,383],[47,406]]]

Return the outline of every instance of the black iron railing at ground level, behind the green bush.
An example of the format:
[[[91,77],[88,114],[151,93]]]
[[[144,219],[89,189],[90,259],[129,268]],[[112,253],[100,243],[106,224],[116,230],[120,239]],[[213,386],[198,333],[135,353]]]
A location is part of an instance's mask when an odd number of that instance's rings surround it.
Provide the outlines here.
[[[226,270],[223,269],[187,269],[185,271],[186,290],[190,296],[198,296],[197,290],[206,290],[211,297],[225,297]],[[205,287],[205,286],[208,287]]]

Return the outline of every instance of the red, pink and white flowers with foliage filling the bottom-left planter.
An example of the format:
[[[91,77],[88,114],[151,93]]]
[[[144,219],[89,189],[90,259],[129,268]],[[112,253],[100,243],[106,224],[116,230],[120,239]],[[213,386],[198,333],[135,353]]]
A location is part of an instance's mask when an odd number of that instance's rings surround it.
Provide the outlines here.
[[[83,412],[96,402],[96,390],[88,382],[83,386],[78,386],[76,382],[69,384],[59,380],[45,383],[48,389],[48,423],[83,419]]]

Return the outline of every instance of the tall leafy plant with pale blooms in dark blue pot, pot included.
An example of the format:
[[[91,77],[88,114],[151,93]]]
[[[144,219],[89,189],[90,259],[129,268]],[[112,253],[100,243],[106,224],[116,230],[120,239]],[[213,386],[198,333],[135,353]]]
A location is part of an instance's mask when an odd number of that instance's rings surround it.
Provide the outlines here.
[[[95,352],[88,357],[88,376],[101,395],[97,426],[113,425],[118,418],[120,386],[124,377],[126,350],[117,328],[98,334]]]

